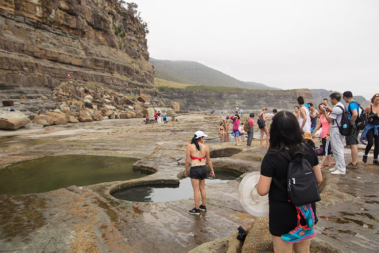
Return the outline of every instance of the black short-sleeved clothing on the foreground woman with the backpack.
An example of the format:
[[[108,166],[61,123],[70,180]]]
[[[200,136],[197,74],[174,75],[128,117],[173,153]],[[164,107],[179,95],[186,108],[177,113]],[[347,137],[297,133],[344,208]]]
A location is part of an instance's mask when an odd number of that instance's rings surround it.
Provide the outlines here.
[[[315,152],[308,145],[305,147],[306,154],[304,158],[311,166],[319,164],[319,159]],[[289,150],[283,152],[290,152]],[[261,164],[261,175],[266,177],[275,177],[283,186],[286,185],[287,180],[287,167],[289,160],[282,154],[272,155],[266,153]],[[295,206],[288,202],[287,194],[284,193],[274,182],[271,181],[270,191],[268,192],[269,203],[269,230],[273,236],[281,236],[287,234],[298,225],[298,213]],[[316,224],[318,219],[316,217],[316,205],[311,203],[314,219]],[[302,218],[302,225],[305,221]]]

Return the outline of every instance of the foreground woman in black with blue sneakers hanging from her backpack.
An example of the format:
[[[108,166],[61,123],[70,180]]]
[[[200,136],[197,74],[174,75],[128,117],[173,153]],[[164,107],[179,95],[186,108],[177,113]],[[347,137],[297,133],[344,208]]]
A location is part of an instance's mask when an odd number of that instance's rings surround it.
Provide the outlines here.
[[[309,252],[310,238],[315,236],[313,225],[318,222],[315,201],[320,200],[318,183],[322,182],[322,174],[317,155],[302,144],[302,135],[291,112],[280,111],[275,115],[257,185],[259,195],[268,194],[269,231],[275,252],[292,252],[292,246],[294,252]]]

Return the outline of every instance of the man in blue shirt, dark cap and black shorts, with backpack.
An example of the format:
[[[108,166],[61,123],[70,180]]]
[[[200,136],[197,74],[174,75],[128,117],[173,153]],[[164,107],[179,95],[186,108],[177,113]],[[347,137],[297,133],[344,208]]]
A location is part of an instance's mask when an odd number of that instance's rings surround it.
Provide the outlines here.
[[[351,120],[356,124],[356,120],[359,120],[359,115],[364,113],[365,111],[362,108],[360,108],[360,104],[356,100],[354,100],[351,91],[345,91],[343,94],[343,99],[346,103],[349,104],[346,111],[349,113]],[[353,134],[346,136],[346,145],[350,146],[352,158],[352,161],[346,165],[346,168],[358,168],[358,134],[359,129],[355,128]]]

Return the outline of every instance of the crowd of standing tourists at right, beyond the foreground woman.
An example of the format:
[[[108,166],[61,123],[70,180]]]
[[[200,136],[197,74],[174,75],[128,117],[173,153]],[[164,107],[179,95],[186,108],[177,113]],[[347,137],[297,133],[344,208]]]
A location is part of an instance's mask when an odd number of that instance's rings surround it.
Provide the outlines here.
[[[312,135],[312,140],[315,138],[313,133],[316,133],[320,128],[322,140],[322,155],[323,159],[320,164],[324,166],[332,166],[329,171],[334,175],[345,175],[346,169],[358,168],[358,136],[362,130],[361,142],[367,145],[365,154],[362,157],[364,163],[367,162],[367,155],[371,147],[375,143],[373,164],[379,165],[377,160],[379,153],[379,136],[378,125],[379,118],[379,94],[375,94],[371,98],[371,105],[363,109],[360,103],[353,98],[350,91],[345,91],[342,98],[347,103],[347,108],[341,102],[339,93],[332,93],[329,96],[333,108],[328,104],[328,99],[324,98],[319,104],[319,110],[315,110],[312,103],[304,104],[304,98],[298,97],[298,105],[294,107],[293,115],[298,119],[300,128],[303,132],[309,132]],[[346,112],[346,117],[344,117]],[[317,119],[319,121],[317,122]],[[351,131],[348,131],[351,128]],[[352,161],[346,165],[344,157],[344,147],[349,146],[351,151]],[[335,161],[332,161],[331,155],[334,155]]]

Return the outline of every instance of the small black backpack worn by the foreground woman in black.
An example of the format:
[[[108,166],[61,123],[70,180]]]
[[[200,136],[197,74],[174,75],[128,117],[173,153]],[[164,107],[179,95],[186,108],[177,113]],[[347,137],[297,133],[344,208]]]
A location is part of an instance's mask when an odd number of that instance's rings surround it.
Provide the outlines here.
[[[287,189],[278,179],[272,177],[272,181],[287,194],[288,199],[294,206],[302,206],[312,202],[320,201],[319,185],[316,176],[309,162],[301,152],[296,152],[294,156],[301,154],[300,163],[294,162],[287,152],[282,153],[289,160],[287,168]]]

